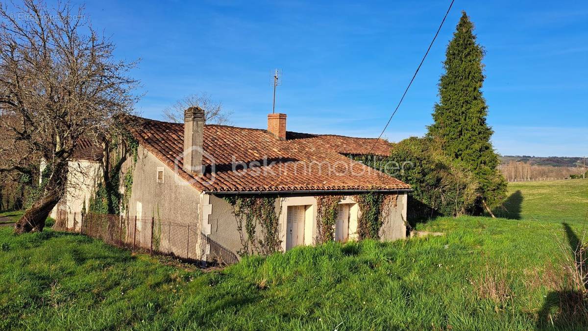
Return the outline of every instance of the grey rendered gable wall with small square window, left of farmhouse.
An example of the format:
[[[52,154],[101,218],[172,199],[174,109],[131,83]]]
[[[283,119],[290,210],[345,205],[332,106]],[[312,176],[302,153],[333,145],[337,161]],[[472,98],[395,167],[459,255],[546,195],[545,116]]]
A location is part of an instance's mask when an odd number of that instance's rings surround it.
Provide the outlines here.
[[[141,145],[137,162],[133,163],[133,156],[128,156],[121,170],[121,192],[126,172],[132,171],[133,177],[128,209],[124,212],[129,219],[127,236],[136,238],[137,245],[141,243],[142,247],[149,248],[153,230],[159,251],[200,259],[203,254],[199,218],[201,193]],[[158,180],[161,170],[163,180]]]

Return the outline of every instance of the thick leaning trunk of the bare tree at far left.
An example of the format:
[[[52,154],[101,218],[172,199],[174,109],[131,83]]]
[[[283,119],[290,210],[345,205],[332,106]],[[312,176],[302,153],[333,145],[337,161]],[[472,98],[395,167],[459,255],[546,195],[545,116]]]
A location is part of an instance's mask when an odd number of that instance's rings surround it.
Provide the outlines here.
[[[16,222],[15,233],[41,232],[45,228],[45,219],[64,195],[68,176],[68,162],[59,161],[52,166],[52,172],[42,196],[30,208],[26,209],[25,213]]]

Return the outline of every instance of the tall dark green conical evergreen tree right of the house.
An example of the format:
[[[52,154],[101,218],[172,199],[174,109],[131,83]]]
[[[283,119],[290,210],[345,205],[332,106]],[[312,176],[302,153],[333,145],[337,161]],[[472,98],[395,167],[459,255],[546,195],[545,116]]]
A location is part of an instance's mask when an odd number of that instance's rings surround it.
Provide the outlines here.
[[[443,151],[471,169],[479,181],[480,199],[476,212],[483,206],[498,205],[506,193],[506,181],[497,170],[499,159],[486,123],[487,105],[482,95],[484,49],[476,43],[474,26],[466,12],[457,24],[446,51],[445,74],[440,78],[440,100],[435,104],[433,125],[428,135],[440,138]]]

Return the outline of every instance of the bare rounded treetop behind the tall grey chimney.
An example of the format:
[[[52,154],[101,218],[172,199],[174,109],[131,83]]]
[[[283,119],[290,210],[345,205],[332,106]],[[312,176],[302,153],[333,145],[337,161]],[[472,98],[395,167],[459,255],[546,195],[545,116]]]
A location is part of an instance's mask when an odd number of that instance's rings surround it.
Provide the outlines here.
[[[204,122],[207,124],[230,124],[232,112],[222,108],[222,102],[213,101],[206,93],[198,93],[185,96],[176,101],[173,105],[163,109],[163,116],[166,120],[175,123],[183,123],[185,109],[200,107],[204,111]]]

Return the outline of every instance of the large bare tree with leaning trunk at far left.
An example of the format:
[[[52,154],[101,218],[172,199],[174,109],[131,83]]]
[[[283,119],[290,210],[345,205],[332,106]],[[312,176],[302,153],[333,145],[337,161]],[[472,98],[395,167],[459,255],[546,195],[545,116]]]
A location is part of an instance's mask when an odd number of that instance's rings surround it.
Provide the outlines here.
[[[21,171],[22,158],[49,167],[44,190],[16,223],[15,232],[41,231],[66,187],[68,162],[79,139],[98,141],[131,112],[135,62],[115,61],[115,46],[99,36],[83,8],[48,9],[34,0],[0,4],[0,130],[15,152],[0,171]]]

